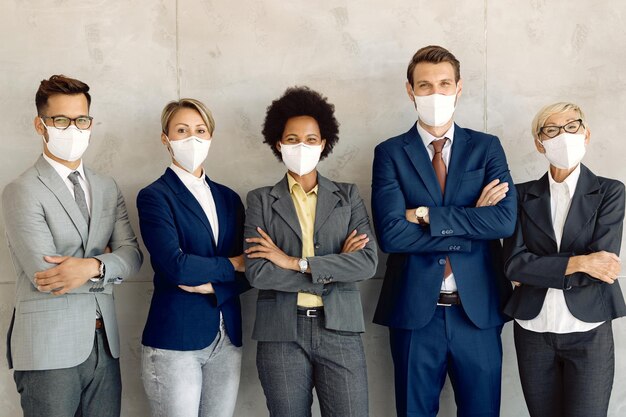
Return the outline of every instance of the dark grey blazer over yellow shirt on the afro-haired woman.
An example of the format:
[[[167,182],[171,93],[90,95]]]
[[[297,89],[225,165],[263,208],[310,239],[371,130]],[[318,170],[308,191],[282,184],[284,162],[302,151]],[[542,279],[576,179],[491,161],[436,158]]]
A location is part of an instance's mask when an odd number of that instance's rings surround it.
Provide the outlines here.
[[[354,184],[332,182],[320,174],[315,214],[315,256],[308,258],[311,274],[285,270],[265,259],[246,258],[246,277],[259,294],[253,339],[294,341],[297,336],[297,293],[321,295],[326,328],[363,332],[363,309],[358,281],[376,272],[378,254],[363,200]],[[265,230],[287,255],[300,257],[302,233],[287,177],[273,187],[248,193],[246,237]],[[366,233],[370,241],[353,253],[340,253],[348,234]],[[246,248],[249,247],[246,244]]]

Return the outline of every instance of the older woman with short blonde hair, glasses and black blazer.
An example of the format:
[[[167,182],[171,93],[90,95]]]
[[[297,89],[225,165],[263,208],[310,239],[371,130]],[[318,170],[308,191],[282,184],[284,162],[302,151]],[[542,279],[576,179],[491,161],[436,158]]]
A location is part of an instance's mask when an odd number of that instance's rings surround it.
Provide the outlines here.
[[[611,320],[626,315],[617,282],[624,184],[580,163],[591,132],[576,104],[544,107],[532,133],[548,172],[517,185],[517,226],[504,242],[524,397],[531,417],[606,416]]]

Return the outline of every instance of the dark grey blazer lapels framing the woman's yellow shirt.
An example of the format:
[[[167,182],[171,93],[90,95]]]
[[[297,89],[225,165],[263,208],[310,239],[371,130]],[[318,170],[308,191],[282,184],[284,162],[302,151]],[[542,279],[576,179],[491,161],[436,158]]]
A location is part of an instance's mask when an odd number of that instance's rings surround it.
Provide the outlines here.
[[[276,200],[272,203],[272,209],[278,213],[280,217],[291,227],[291,229],[298,235],[300,241],[302,241],[302,231],[300,230],[300,221],[298,220],[298,214],[296,208],[293,205],[291,199],[291,193],[289,192],[289,185],[287,182],[287,175],[282,180],[278,181],[272,190],[270,195]],[[323,177],[319,172],[317,173],[317,208],[315,210],[315,230],[317,234],[320,227],[324,225],[328,217],[331,215],[337,203],[341,198],[336,195],[339,192],[339,188],[327,179]]]

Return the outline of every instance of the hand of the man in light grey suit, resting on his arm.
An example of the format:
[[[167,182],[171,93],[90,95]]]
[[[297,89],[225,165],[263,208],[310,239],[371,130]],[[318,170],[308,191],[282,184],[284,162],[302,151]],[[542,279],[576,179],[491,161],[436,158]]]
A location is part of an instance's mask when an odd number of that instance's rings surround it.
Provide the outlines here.
[[[35,273],[35,283],[41,292],[62,295],[100,274],[100,261],[95,258],[44,256],[43,259],[57,265]]]

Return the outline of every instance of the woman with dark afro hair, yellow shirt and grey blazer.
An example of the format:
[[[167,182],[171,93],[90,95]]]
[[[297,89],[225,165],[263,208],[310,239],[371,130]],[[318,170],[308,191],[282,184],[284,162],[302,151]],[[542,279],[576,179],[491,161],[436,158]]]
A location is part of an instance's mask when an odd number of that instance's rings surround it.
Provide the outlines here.
[[[253,338],[271,417],[368,415],[365,329],[358,282],[376,272],[377,248],[354,184],[317,171],[339,140],[335,108],[307,87],[267,109],[264,143],[287,173],[251,191],[246,276],[259,289]]]

